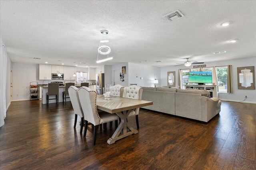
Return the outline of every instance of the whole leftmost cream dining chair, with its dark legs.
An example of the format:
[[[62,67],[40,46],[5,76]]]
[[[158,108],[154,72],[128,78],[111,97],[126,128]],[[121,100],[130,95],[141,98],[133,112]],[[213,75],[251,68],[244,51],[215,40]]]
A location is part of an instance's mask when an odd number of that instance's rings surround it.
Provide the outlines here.
[[[82,133],[83,127],[84,127],[84,112],[80,104],[80,100],[78,96],[78,88],[76,88],[76,86],[70,86],[68,88],[68,93],[69,93],[70,101],[75,113],[74,128],[76,128],[77,115],[79,115],[81,117],[80,133]]]

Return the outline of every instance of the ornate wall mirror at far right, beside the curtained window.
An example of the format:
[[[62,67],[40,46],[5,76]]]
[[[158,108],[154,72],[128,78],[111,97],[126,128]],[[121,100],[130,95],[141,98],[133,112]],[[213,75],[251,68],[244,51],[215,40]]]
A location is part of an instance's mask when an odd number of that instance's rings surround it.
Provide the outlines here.
[[[237,68],[238,89],[255,89],[254,66]]]

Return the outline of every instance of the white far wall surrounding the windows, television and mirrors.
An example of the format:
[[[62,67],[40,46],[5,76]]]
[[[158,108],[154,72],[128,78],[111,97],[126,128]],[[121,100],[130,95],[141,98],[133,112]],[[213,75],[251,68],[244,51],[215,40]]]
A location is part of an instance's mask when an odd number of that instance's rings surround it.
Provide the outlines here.
[[[232,65],[232,93],[231,94],[219,93],[218,97],[221,100],[238,102],[238,101],[244,100],[244,97],[246,95],[247,99],[245,100],[245,102],[256,103],[256,90],[238,89],[238,84],[237,84],[237,67],[254,66],[256,70],[256,57],[210,62],[210,63],[204,63],[204,64],[206,64],[206,67]],[[193,65],[190,67],[186,67],[184,65],[161,67],[161,85],[167,86],[167,72],[175,71],[176,88],[177,88],[178,87],[178,70],[188,69],[188,68],[193,68]]]

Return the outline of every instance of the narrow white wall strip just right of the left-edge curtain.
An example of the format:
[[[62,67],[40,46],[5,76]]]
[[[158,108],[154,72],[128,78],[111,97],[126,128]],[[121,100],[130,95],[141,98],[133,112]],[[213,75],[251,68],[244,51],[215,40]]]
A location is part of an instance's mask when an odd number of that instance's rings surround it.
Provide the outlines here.
[[[6,111],[11,104],[11,70],[12,70],[12,61],[8,57],[7,59],[7,73],[6,73]]]

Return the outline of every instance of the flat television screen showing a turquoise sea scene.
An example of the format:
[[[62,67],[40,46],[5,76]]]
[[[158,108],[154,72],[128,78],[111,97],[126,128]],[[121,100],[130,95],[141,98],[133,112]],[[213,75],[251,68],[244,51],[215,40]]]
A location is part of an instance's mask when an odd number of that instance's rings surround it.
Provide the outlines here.
[[[189,83],[212,83],[212,71],[188,72]]]

